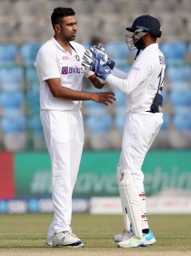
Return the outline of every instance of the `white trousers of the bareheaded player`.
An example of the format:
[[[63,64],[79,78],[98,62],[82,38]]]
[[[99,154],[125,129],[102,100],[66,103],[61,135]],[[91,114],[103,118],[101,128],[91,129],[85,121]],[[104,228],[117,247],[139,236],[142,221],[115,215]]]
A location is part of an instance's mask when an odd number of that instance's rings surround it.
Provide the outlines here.
[[[79,111],[48,111],[40,113],[43,133],[52,169],[52,200],[54,220],[48,237],[72,231],[72,191],[84,145],[84,124]]]

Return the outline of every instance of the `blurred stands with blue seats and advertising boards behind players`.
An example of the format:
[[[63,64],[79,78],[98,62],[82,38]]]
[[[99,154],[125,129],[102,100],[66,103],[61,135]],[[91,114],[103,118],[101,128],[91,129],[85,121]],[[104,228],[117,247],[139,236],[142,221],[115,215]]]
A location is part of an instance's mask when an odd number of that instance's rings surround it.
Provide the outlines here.
[[[135,52],[125,27],[138,15],[159,18],[160,48],[167,64],[164,124],[143,170],[149,213],[190,213],[191,201],[191,3],[190,0],[1,0],[0,1],[0,212],[52,212],[49,155],[39,119],[33,66],[40,45],[53,35],[55,7],[72,7],[77,41],[97,38],[117,67],[128,71]],[[84,79],[84,90],[93,90]],[[74,212],[119,213],[116,166],[125,97],[108,108],[84,102],[85,145],[74,190]]]

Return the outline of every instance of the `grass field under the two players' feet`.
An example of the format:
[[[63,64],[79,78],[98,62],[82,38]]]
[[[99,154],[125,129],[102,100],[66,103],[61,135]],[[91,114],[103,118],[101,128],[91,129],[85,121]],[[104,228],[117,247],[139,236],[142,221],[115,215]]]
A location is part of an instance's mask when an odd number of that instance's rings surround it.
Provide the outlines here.
[[[44,240],[52,218],[52,214],[43,213],[0,215],[0,255],[156,256],[158,252],[191,255],[191,216],[189,215],[149,216],[149,224],[157,243],[151,247],[132,249],[118,248],[112,239],[113,234],[123,230],[122,216],[86,213],[76,213],[72,217],[73,232],[83,240],[84,248],[45,247]],[[71,250],[72,254],[69,253]]]

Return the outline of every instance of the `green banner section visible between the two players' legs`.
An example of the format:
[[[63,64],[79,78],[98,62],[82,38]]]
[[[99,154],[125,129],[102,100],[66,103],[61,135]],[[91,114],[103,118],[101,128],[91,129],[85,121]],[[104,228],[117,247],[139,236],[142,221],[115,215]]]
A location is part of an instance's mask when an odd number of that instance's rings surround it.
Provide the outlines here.
[[[116,180],[118,161],[118,151],[84,152],[74,188],[75,195],[119,195]]]

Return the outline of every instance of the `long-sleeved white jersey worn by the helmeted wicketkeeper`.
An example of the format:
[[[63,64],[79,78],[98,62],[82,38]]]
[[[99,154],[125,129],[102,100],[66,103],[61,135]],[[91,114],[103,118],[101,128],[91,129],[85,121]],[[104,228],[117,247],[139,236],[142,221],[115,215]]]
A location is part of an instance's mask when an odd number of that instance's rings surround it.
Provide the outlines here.
[[[128,96],[126,111],[149,111],[155,94],[163,87],[165,57],[158,44],[150,44],[137,56],[126,78],[119,79],[114,75],[107,76],[106,81]]]

